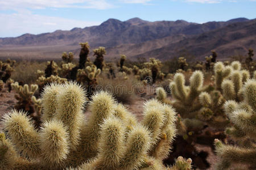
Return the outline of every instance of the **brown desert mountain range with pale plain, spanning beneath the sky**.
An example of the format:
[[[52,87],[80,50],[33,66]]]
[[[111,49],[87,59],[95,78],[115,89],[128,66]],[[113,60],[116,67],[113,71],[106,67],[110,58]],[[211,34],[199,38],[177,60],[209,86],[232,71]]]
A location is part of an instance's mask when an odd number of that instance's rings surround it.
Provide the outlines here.
[[[0,38],[0,57],[51,59],[61,58],[64,51],[78,57],[79,42],[86,41],[91,51],[105,46],[107,60],[119,58],[120,54],[130,59],[166,60],[180,56],[203,59],[209,56],[210,50],[216,50],[220,58],[228,58],[245,55],[249,48],[256,50],[256,19],[203,24],[184,20],[148,22],[133,18],[121,22],[109,19],[93,27]]]

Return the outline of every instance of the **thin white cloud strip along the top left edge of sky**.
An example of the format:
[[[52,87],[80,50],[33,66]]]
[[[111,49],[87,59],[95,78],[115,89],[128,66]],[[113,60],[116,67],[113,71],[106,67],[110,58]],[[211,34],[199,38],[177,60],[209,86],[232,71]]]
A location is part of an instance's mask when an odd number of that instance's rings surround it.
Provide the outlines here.
[[[0,1],[0,9],[2,10],[18,10],[18,9],[43,9],[47,7],[53,8],[95,8],[106,9],[114,7],[106,0],[8,0]]]

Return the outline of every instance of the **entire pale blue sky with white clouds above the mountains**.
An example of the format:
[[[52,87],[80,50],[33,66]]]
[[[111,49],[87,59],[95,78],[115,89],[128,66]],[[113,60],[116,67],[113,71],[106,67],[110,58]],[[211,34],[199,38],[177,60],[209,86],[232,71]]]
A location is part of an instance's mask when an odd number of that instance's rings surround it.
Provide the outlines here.
[[[178,20],[205,23],[256,18],[256,0],[0,0],[0,37],[125,21]]]

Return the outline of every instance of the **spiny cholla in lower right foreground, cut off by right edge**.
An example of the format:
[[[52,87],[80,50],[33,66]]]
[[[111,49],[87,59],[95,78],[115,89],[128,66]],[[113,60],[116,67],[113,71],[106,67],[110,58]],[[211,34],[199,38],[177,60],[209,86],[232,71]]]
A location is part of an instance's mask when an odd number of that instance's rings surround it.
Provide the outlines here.
[[[248,79],[242,87],[243,101],[226,101],[225,113],[234,126],[226,129],[226,133],[234,139],[242,140],[240,146],[224,145],[216,139],[216,152],[220,156],[217,169],[228,169],[234,163],[247,164],[255,169],[256,145],[251,139],[256,139],[256,80]],[[248,168],[249,168],[248,167]]]

